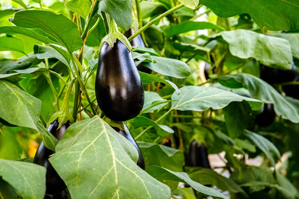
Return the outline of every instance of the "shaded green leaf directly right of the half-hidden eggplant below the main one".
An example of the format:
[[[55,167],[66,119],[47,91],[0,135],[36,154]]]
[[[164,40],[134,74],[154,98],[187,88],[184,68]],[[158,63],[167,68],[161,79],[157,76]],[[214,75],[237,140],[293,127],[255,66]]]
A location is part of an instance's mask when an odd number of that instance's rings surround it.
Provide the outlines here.
[[[153,144],[148,142],[138,142],[139,148],[144,157],[145,168],[156,165],[172,171],[181,172],[184,164],[184,155],[181,151],[167,146]],[[178,182],[162,181],[167,184],[171,190],[178,187]]]

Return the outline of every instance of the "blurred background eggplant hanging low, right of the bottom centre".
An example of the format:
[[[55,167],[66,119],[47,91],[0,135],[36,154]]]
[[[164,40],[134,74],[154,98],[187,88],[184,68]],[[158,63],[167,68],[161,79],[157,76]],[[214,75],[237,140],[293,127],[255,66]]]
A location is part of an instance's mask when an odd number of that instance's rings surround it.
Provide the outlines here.
[[[198,144],[195,140],[190,143],[189,154],[185,162],[186,166],[203,167],[210,169],[208,149],[203,143]]]

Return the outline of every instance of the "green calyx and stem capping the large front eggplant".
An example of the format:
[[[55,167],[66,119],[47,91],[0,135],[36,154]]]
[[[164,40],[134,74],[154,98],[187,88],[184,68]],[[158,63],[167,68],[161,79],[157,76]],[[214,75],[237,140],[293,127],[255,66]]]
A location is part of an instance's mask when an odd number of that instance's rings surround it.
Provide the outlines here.
[[[131,46],[130,42],[128,41],[126,36],[124,36],[122,33],[120,33],[118,31],[117,24],[115,23],[112,16],[110,16],[109,14],[106,13],[106,19],[108,22],[107,24],[109,27],[109,33],[102,39],[102,41],[100,43],[100,47],[97,50],[97,54],[99,54],[100,49],[105,42],[107,42],[109,44],[109,46],[111,46],[113,48],[114,43],[116,42],[117,39],[119,41],[121,41],[123,44],[125,44],[126,47],[129,49],[129,51],[132,52],[132,46]]]

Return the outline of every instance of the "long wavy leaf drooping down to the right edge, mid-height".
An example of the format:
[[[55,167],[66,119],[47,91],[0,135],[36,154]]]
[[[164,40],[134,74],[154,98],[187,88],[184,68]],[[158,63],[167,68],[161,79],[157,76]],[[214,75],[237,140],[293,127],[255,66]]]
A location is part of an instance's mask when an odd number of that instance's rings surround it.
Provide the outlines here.
[[[282,116],[282,118],[294,123],[299,122],[299,115],[295,107],[260,78],[245,73],[225,75],[219,77],[219,83],[230,88],[242,88],[243,84],[246,84],[254,98],[265,103],[274,104],[274,110],[278,116]]]

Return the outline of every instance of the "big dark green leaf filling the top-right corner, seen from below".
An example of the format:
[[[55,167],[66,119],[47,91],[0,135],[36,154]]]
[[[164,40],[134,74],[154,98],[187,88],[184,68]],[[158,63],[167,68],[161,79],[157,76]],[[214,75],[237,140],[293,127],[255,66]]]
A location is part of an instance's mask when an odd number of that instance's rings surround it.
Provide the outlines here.
[[[261,28],[268,30],[299,29],[299,2],[297,0],[239,1],[239,0],[201,0],[219,17],[232,17],[248,13]],[[225,9],[224,9],[225,8]]]

